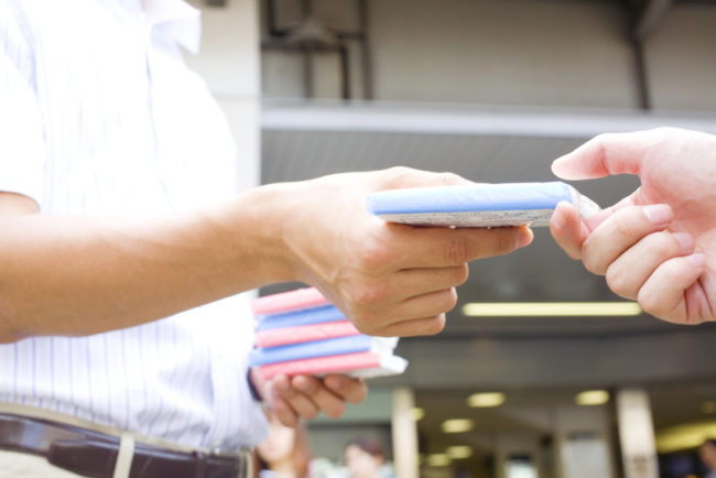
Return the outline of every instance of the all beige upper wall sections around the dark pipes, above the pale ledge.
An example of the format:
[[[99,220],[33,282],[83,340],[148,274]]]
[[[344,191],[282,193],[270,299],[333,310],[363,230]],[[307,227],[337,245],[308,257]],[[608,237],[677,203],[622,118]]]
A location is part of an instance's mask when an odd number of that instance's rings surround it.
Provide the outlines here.
[[[278,2],[283,24],[297,0]],[[376,99],[508,106],[637,108],[634,54],[619,2],[595,0],[371,0]],[[314,0],[327,26],[357,25],[351,0]],[[648,37],[652,102],[716,110],[716,6],[669,10]],[[351,86],[361,95],[358,44]],[[314,61],[316,96],[339,94],[336,58]],[[302,95],[301,57],[264,52],[269,97]]]

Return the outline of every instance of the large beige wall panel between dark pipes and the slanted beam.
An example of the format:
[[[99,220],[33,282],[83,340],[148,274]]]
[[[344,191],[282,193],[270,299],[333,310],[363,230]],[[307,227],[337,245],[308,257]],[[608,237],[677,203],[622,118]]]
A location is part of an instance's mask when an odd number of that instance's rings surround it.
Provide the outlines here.
[[[372,2],[380,99],[632,107],[630,52],[614,3]]]

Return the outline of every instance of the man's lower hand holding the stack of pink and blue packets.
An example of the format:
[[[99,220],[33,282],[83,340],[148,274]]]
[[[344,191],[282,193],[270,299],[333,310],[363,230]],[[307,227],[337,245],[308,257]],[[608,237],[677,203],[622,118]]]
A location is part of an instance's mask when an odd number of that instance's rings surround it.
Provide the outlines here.
[[[361,379],[343,374],[276,376],[264,382],[258,373],[251,373],[251,380],[286,426],[295,426],[300,419],[314,419],[319,412],[336,419],[345,411],[346,402],[360,403],[368,395],[368,387]]]

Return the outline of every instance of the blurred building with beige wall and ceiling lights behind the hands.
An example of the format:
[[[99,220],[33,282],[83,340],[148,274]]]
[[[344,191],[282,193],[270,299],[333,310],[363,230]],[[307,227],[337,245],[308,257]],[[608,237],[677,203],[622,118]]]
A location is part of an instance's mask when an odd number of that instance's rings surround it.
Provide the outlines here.
[[[601,132],[716,133],[716,1],[193,3],[204,44],[187,61],[228,113],[246,186],[393,165],[552,181],[555,157]],[[638,181],[577,186],[609,205]],[[401,478],[703,476],[716,328],[598,315],[619,297],[535,232],[525,250],[473,264],[444,333],[401,341],[406,373],[310,425],[316,455],[340,460],[373,434]],[[466,307],[525,302],[597,304],[566,316]]]

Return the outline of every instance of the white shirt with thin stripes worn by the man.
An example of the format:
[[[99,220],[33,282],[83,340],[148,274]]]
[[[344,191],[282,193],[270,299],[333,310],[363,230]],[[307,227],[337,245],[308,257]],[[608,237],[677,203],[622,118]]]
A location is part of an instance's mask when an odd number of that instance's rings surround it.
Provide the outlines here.
[[[182,0],[0,0],[0,191],[41,214],[151,216],[236,193],[236,146],[180,46]],[[248,296],[90,337],[0,345],[0,402],[185,446],[268,433],[247,383]]]

